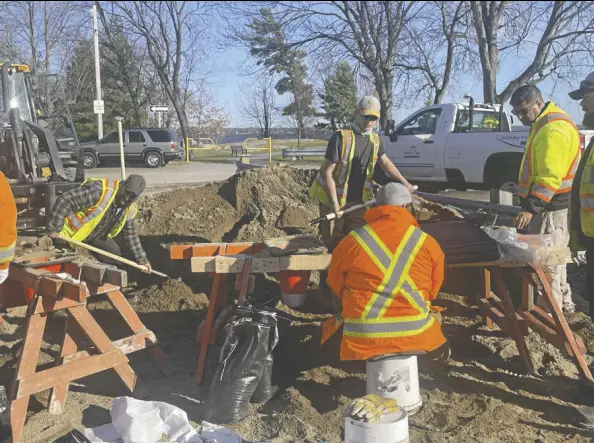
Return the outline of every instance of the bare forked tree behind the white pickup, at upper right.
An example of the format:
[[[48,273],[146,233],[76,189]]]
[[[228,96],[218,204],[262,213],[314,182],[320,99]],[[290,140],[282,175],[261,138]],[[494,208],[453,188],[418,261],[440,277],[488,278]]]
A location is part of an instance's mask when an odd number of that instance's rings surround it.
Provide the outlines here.
[[[486,102],[504,103],[522,84],[567,75],[579,58],[591,65],[592,1],[471,1],[470,7]],[[528,66],[497,92],[499,63],[511,53],[528,55]]]

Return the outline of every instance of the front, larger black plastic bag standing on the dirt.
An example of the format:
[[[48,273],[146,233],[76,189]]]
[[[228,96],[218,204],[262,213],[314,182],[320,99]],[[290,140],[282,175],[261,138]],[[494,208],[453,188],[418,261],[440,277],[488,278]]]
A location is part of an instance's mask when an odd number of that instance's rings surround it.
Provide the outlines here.
[[[225,344],[206,404],[207,421],[234,423],[248,415],[250,398],[264,372],[270,330],[270,325],[249,317],[225,327]]]

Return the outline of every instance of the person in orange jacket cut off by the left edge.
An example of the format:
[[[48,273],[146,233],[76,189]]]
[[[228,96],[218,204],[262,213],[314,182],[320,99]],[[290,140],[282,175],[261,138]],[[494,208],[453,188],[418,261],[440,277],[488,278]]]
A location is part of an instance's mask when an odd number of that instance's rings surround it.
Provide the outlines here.
[[[16,246],[16,204],[8,180],[0,172],[0,284],[8,278],[8,267]]]

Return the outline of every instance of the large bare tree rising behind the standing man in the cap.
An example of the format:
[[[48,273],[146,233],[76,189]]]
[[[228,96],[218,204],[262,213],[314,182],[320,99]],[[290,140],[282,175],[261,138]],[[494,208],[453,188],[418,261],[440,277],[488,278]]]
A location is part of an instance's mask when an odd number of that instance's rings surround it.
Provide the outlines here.
[[[286,29],[287,48],[302,47],[315,58],[336,56],[363,66],[372,76],[381,103],[381,126],[392,114],[395,62],[407,24],[422,9],[415,1],[250,2],[234,15],[252,17],[266,7]],[[237,25],[229,34],[241,35]]]

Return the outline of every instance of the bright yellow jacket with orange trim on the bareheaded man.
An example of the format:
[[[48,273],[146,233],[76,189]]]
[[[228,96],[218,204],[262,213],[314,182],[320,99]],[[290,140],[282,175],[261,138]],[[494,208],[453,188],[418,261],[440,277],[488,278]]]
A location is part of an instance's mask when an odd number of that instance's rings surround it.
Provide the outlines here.
[[[555,122],[562,122],[562,125]],[[571,140],[569,150],[565,146],[557,147],[555,140],[549,140],[553,142],[549,144],[549,149],[535,146],[540,131],[552,124],[565,133],[569,130],[568,125],[575,131],[575,134],[567,134]],[[547,131],[543,136],[553,138],[558,137],[558,134],[557,131]],[[579,132],[571,118],[551,102],[530,129],[518,179],[520,197],[526,198],[532,194],[549,203],[555,195],[570,192],[580,159],[579,143]],[[543,163],[547,164],[548,170],[537,170],[535,165]]]

